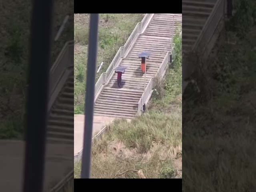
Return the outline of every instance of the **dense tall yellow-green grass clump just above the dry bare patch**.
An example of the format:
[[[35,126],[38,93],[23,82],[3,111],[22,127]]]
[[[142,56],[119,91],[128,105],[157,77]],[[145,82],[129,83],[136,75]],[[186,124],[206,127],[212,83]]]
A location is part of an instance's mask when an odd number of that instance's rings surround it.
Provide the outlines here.
[[[178,146],[181,144],[181,109],[170,114],[151,111],[133,119],[115,120],[108,126],[106,137],[120,140],[128,148],[136,148],[138,153],[148,152],[152,143]]]

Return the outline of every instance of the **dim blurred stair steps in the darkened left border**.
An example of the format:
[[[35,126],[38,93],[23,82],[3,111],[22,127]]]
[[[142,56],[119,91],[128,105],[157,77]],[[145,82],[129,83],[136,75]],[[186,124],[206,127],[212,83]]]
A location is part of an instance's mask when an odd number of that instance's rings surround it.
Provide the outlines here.
[[[74,69],[52,106],[48,118],[47,140],[74,144]]]

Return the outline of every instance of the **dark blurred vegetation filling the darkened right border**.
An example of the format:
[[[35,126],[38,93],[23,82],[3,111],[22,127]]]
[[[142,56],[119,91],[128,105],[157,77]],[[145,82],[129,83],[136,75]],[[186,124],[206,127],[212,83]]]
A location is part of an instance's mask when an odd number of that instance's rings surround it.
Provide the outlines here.
[[[252,0],[236,4],[212,66],[203,69],[205,76],[197,73],[200,92],[193,86],[185,92],[184,191],[245,192],[256,187],[255,8]]]

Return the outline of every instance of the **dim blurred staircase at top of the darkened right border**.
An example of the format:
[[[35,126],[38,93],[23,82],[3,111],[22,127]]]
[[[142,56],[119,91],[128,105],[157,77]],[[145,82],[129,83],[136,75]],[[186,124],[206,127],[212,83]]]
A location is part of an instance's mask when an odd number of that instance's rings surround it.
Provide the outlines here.
[[[182,53],[192,51],[217,0],[182,0]]]

